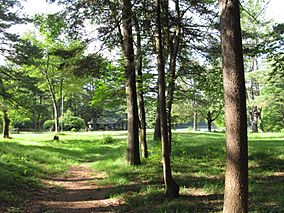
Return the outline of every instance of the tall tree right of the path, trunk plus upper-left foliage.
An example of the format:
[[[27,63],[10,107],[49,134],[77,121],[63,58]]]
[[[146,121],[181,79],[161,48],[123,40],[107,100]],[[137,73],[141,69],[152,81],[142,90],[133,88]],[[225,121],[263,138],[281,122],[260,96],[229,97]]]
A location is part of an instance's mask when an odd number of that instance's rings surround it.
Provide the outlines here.
[[[52,1],[53,2],[53,1]],[[128,114],[128,146],[126,160],[130,164],[140,164],[139,156],[139,130],[138,130],[138,106],[135,75],[135,57],[132,29],[132,4],[131,1],[59,1],[66,5],[68,13],[66,20],[70,32],[74,36],[82,33],[84,22],[92,20],[97,24],[100,39],[104,46],[110,50],[121,48],[125,61],[125,90]],[[80,12],[78,9],[80,8]],[[88,38],[91,42],[93,38]]]

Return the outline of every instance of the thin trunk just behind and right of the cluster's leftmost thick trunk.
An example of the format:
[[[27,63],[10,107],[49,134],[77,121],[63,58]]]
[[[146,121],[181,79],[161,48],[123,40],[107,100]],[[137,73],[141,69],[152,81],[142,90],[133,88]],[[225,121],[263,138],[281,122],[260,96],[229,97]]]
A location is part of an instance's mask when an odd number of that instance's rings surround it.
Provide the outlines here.
[[[136,54],[136,65],[137,65],[137,95],[138,95],[138,107],[139,107],[139,136],[140,143],[142,145],[142,154],[144,158],[148,158],[148,147],[146,140],[146,113],[144,104],[144,90],[143,90],[143,74],[142,74],[142,45],[140,27],[137,17],[134,16],[135,29],[137,33],[137,54]]]

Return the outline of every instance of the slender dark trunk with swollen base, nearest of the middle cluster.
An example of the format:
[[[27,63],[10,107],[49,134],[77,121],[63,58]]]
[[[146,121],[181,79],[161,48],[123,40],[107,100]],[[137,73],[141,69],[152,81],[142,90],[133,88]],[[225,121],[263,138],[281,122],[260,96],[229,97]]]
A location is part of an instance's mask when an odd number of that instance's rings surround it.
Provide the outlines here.
[[[163,173],[166,187],[166,196],[174,198],[179,195],[179,186],[172,178],[169,137],[167,126],[166,97],[165,97],[165,64],[163,58],[162,32],[161,32],[161,1],[156,0],[157,18],[156,18],[156,52],[159,81],[160,97],[160,116],[161,116],[161,139],[162,139],[162,156],[163,156]]]

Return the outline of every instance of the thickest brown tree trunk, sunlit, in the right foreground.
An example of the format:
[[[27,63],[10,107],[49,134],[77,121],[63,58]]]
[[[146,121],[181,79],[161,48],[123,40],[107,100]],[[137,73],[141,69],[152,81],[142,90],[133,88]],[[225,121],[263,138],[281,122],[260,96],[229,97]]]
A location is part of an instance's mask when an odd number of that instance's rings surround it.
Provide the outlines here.
[[[245,79],[238,0],[219,0],[226,123],[223,212],[248,212]]]

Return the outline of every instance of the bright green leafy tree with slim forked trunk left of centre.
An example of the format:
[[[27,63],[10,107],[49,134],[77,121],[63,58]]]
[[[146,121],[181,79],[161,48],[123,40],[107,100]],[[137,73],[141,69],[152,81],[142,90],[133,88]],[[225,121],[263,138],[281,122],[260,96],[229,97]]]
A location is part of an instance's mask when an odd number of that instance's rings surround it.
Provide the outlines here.
[[[10,60],[36,77],[41,82],[38,84],[41,91],[48,91],[53,106],[54,130],[57,132],[64,84],[70,79],[66,66],[82,53],[84,45],[63,36],[66,24],[56,14],[37,15],[34,22],[40,36],[31,32],[25,34],[21,43],[15,45],[17,54]]]

